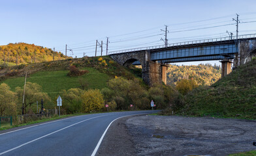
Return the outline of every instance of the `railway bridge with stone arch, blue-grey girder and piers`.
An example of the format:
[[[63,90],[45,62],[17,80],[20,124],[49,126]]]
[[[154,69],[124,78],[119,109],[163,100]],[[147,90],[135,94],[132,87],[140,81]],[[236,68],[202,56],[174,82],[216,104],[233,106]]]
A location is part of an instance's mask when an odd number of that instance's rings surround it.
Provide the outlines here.
[[[256,34],[240,35],[235,39],[211,38],[111,51],[110,57],[122,66],[142,65],[142,79],[148,85],[167,83],[167,64],[203,60],[221,60],[221,77],[233,68],[256,56]]]

